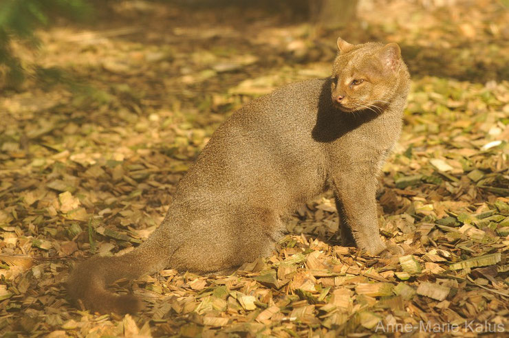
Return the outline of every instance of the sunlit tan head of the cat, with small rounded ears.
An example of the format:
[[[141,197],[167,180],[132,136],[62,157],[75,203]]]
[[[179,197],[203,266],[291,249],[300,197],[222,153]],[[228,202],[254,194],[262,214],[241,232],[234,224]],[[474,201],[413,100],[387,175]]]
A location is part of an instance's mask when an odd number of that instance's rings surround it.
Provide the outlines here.
[[[409,78],[396,43],[352,45],[338,38],[332,69],[331,98],[341,111],[371,109],[380,113]]]

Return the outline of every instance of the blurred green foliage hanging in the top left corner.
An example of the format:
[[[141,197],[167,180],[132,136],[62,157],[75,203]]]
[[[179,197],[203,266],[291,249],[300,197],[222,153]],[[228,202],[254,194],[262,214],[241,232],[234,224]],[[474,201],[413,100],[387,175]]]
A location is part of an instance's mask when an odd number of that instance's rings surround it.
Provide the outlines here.
[[[13,40],[38,47],[36,28],[47,27],[56,16],[82,20],[91,12],[84,0],[1,0],[0,8],[0,75],[11,88],[25,78],[23,63],[12,51]]]

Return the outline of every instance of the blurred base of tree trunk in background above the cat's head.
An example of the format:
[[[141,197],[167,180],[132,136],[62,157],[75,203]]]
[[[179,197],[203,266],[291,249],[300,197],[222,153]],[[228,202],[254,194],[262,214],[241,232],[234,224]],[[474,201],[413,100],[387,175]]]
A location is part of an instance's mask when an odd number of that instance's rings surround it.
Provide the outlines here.
[[[317,25],[334,29],[356,20],[358,0],[309,0],[311,19]]]

